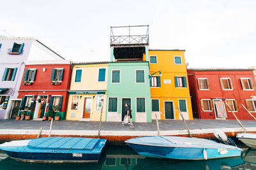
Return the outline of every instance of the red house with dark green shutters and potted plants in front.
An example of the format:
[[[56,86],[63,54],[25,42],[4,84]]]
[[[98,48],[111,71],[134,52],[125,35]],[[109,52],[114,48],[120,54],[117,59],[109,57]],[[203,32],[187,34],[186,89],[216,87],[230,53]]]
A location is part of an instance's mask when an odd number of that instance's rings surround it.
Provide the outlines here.
[[[52,108],[65,119],[71,62],[26,62],[19,96],[20,110],[31,111],[31,118],[47,116]]]

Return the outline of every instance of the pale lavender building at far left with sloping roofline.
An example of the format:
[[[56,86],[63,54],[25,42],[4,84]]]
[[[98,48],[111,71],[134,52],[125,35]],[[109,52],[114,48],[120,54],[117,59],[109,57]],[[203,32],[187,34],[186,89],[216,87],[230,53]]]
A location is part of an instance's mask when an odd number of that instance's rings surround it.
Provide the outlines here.
[[[0,59],[0,119],[15,118],[19,111],[25,61],[64,60],[35,38],[0,38]]]

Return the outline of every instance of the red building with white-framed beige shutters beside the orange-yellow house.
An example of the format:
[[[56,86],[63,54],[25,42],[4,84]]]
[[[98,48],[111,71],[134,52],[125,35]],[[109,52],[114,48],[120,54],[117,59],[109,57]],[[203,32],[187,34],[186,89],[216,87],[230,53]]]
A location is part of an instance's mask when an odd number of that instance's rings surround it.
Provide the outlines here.
[[[253,69],[188,69],[193,117],[202,119],[253,120],[256,116]],[[225,104],[228,103],[230,108]]]

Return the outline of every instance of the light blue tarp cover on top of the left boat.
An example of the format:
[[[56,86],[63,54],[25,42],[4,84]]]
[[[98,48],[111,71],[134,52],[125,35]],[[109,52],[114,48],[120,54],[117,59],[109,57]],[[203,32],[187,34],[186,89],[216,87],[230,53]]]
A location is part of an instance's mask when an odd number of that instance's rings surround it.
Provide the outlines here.
[[[29,148],[52,150],[93,150],[100,139],[48,137],[33,139],[28,143]]]

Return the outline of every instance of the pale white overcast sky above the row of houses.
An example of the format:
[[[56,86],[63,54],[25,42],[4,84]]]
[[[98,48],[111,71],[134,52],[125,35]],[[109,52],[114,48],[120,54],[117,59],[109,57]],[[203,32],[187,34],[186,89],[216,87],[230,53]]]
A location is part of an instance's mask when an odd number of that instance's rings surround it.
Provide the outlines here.
[[[149,25],[149,48],[186,50],[188,67],[256,66],[256,1],[0,0],[0,30],[74,62],[110,60],[110,27]]]

